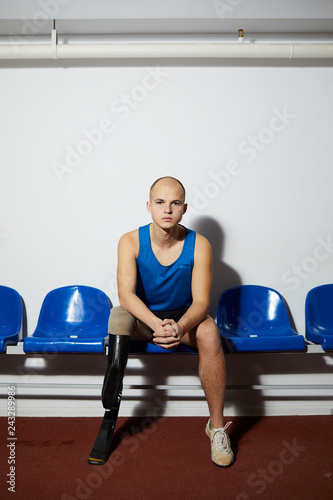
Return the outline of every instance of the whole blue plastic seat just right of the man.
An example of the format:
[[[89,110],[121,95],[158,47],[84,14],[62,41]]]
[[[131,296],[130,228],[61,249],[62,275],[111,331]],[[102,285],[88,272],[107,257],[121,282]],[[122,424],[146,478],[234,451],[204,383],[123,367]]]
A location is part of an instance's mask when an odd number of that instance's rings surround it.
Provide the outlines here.
[[[292,329],[284,300],[272,288],[242,285],[225,290],[217,324],[230,352],[305,350],[304,337]]]

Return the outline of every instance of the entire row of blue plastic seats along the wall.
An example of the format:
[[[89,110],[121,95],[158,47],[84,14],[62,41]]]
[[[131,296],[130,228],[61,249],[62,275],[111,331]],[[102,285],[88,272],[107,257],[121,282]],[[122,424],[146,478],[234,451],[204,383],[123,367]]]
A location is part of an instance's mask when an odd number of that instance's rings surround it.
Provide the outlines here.
[[[26,353],[104,353],[112,303],[101,290],[65,286],[44,298],[37,327],[23,339]],[[333,349],[333,284],[310,290],[305,302],[305,337],[292,328],[283,297],[272,288],[241,285],[222,292],[217,324],[229,352],[304,351],[305,339]],[[0,352],[20,341],[22,299],[0,286]],[[196,352],[185,346],[166,351],[148,342],[130,342],[130,353]]]

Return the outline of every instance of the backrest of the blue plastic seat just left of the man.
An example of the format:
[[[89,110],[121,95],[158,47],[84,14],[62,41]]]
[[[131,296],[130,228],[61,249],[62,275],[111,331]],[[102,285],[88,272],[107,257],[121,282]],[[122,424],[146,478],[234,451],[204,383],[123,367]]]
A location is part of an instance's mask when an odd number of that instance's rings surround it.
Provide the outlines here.
[[[110,308],[107,295],[97,288],[57,288],[44,298],[36,331],[63,336],[107,335]]]

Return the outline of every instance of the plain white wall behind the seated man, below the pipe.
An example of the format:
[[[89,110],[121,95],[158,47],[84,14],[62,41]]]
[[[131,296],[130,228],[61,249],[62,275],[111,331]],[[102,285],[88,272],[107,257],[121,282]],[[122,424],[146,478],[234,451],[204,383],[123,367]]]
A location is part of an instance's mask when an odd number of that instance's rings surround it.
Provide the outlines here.
[[[307,291],[333,281],[333,68],[302,64],[3,63],[0,276],[28,334],[53,288],[117,303],[117,241],[161,175],[213,245],[212,312],[228,286],[268,285],[304,334]]]

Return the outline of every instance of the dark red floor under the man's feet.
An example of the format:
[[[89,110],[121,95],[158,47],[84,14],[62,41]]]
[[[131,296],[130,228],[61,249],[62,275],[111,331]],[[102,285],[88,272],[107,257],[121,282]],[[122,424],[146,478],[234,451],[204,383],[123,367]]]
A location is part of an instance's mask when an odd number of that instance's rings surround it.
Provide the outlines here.
[[[115,451],[104,466],[86,461],[98,418],[20,417],[15,441],[7,439],[7,419],[1,418],[1,498],[333,498],[331,416],[232,420],[229,434],[236,462],[220,469],[210,460],[206,419],[201,417],[119,418]],[[8,491],[10,479],[15,494]]]

